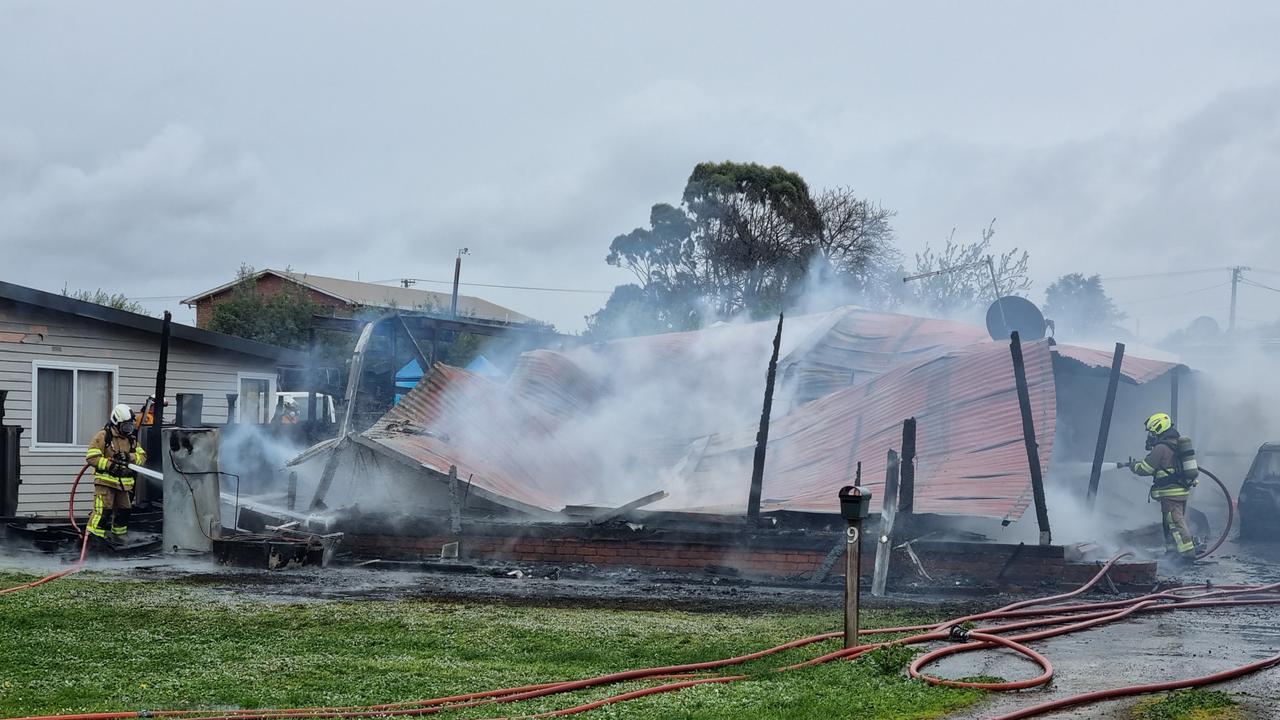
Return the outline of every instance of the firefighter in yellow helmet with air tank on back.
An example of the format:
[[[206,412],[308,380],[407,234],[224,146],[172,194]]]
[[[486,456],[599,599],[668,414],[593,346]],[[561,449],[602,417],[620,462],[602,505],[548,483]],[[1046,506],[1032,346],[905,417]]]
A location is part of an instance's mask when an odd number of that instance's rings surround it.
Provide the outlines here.
[[[1134,474],[1151,478],[1149,496],[1160,501],[1165,527],[1165,551],[1189,562],[1196,559],[1196,541],[1187,527],[1187,500],[1196,480],[1183,471],[1178,456],[1178,429],[1165,413],[1147,418],[1147,457],[1130,464]]]

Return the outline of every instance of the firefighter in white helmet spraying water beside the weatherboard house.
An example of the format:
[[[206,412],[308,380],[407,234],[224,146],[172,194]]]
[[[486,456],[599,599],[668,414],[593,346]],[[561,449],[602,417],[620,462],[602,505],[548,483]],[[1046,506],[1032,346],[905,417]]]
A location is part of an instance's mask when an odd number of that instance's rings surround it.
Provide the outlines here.
[[[111,420],[88,443],[84,462],[93,468],[93,512],[90,534],[113,544],[124,543],[133,509],[134,473],[129,462],[143,465],[147,454],[138,445],[137,418],[128,405],[116,405]]]

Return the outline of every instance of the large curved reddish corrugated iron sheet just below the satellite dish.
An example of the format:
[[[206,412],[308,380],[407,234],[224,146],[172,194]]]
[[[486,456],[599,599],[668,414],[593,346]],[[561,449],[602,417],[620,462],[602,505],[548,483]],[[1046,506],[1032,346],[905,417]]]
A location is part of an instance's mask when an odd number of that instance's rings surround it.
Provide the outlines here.
[[[1046,341],[1025,343],[1023,352],[1047,466],[1056,429],[1052,360]],[[916,511],[1021,516],[1030,479],[1012,360],[1007,343],[991,341],[890,370],[776,420],[762,509],[833,512],[836,491],[854,482],[858,461],[863,484],[879,495],[888,450],[901,446],[910,416],[918,423]],[[654,509],[742,511],[753,442],[750,433],[713,438],[689,489],[672,491]]]

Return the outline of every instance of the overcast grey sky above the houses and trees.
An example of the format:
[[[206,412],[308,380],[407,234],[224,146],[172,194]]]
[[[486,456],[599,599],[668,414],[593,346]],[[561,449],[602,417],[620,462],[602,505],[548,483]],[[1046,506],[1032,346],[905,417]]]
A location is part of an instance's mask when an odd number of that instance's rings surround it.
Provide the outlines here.
[[[1271,1],[0,0],[0,278],[189,322],[241,263],[448,279],[466,246],[463,281],[607,291],[726,159],[882,201],[908,254],[998,218],[1037,301],[1277,270],[1277,37]],[[1225,322],[1228,279],[1108,290],[1148,336]],[[607,297],[465,292],[568,331]]]

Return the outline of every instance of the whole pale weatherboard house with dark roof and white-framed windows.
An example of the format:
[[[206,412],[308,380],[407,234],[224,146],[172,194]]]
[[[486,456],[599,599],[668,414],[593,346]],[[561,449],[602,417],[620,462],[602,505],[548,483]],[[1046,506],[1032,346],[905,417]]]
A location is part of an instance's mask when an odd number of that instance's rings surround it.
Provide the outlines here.
[[[124,402],[137,411],[155,392],[160,327],[159,318],[0,282],[3,421],[22,427],[15,515],[65,516],[86,445],[110,409]],[[170,332],[170,420],[177,393],[202,393],[214,421],[227,416],[227,395],[238,393],[239,420],[266,421],[279,368],[306,361],[293,350],[178,323]],[[92,497],[87,488],[77,495],[78,514]]]

